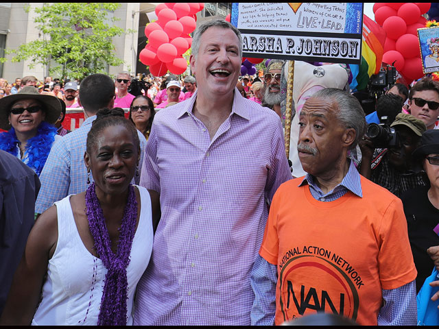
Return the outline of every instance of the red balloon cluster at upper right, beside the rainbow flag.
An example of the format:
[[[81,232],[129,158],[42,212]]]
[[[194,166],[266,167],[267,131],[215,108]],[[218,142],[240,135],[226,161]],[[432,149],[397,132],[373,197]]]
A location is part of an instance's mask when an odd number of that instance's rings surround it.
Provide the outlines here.
[[[383,27],[387,37],[383,62],[394,64],[406,82],[423,77],[417,29],[427,21],[422,14],[430,3],[375,3],[375,21]]]

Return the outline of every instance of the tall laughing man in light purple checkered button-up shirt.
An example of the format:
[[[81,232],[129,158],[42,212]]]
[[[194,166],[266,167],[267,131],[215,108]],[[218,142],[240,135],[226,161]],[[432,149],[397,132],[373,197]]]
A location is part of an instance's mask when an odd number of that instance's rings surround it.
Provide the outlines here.
[[[241,45],[226,21],[198,27],[198,90],[154,117],[141,185],[160,193],[162,217],[135,325],[250,324],[249,275],[268,204],[292,175],[281,119],[235,88]]]

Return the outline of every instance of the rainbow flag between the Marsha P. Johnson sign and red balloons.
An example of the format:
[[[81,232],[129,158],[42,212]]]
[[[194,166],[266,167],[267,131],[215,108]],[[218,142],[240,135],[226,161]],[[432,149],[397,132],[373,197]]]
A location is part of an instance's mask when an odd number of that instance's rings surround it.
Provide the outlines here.
[[[350,64],[352,91],[363,90],[369,78],[377,74],[383,61],[385,31],[368,16],[363,15],[363,40],[361,41],[361,65]]]

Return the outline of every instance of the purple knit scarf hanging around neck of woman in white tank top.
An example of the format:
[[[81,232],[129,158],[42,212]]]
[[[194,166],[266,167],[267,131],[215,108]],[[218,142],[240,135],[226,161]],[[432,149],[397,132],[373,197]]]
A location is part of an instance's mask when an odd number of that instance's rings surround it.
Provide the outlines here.
[[[102,293],[101,308],[97,320],[98,326],[126,326],[128,299],[128,278],[126,268],[130,263],[132,239],[137,223],[137,200],[134,187],[128,188],[128,201],[123,210],[117,254],[112,252],[110,236],[106,228],[104,213],[96,196],[93,182],[85,195],[86,215],[91,235],[99,258],[106,269],[104,292]]]

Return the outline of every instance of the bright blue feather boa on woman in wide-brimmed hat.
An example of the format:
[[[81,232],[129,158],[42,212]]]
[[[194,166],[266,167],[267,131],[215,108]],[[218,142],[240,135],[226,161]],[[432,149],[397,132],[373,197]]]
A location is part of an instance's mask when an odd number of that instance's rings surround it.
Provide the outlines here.
[[[26,143],[25,158],[23,158],[23,161],[27,166],[34,169],[38,176],[41,171],[43,171],[51,146],[55,141],[55,135],[56,127],[46,121],[42,121],[40,125],[38,125],[36,135],[29,138]],[[17,156],[19,154],[17,145],[19,144],[20,141],[16,138],[13,127],[11,127],[8,132],[1,133],[0,149],[3,149],[3,151],[7,151],[13,156]]]

